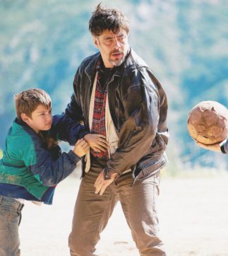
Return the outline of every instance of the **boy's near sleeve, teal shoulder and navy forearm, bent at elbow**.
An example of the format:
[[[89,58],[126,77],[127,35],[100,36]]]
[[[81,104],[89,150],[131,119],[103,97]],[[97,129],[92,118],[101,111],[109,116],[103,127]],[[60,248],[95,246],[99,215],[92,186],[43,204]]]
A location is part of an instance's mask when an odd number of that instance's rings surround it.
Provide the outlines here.
[[[42,146],[38,137],[32,137],[33,145],[22,149],[22,159],[25,166],[32,172],[34,177],[43,185],[52,187],[64,180],[75,170],[80,158],[73,151],[62,153],[53,161],[47,149]]]

